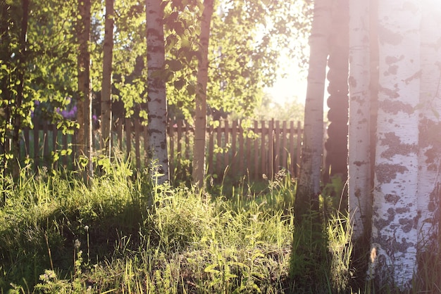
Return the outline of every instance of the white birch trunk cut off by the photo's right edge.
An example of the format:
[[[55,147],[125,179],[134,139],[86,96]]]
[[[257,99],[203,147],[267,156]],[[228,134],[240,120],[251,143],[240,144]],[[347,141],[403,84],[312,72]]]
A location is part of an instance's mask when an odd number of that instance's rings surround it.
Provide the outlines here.
[[[418,250],[425,251],[437,247],[436,236],[439,229],[441,6],[437,0],[424,0],[422,4]]]

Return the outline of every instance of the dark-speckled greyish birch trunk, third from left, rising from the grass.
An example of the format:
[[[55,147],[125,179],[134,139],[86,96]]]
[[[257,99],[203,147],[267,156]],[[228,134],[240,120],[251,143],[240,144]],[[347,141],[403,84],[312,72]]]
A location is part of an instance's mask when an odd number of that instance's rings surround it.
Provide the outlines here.
[[[147,136],[149,168],[156,184],[169,181],[165,49],[161,0],[147,0]]]

